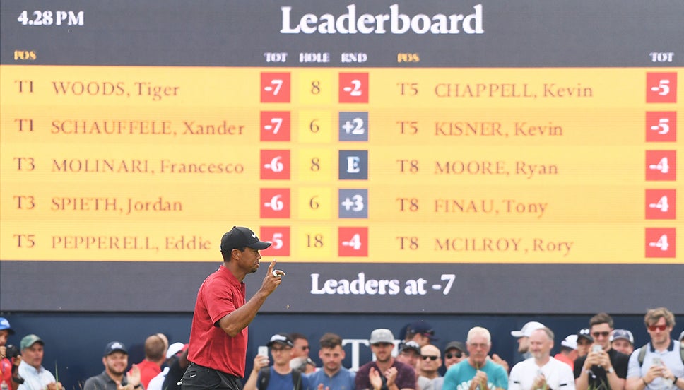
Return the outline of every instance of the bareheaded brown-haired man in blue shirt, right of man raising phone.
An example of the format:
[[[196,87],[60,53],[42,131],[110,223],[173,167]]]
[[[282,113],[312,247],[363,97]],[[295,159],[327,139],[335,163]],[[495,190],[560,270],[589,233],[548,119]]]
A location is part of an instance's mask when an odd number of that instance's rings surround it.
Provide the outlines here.
[[[312,389],[353,390],[356,374],[342,367],[345,353],[342,338],[334,333],[325,333],[320,341],[318,357],[323,362],[321,370],[308,374]]]

